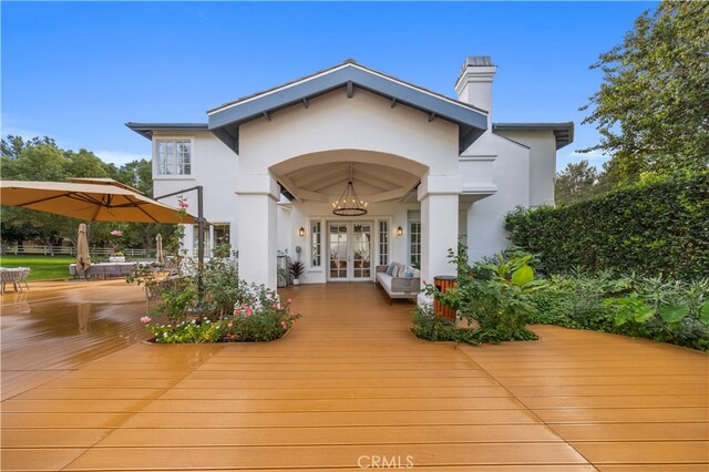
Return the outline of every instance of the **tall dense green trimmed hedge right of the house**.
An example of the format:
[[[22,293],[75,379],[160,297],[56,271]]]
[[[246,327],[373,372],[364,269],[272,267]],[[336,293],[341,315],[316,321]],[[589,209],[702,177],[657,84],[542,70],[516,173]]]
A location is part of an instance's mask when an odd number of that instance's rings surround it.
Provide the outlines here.
[[[709,277],[709,173],[612,192],[559,208],[510,213],[514,245],[548,273],[573,268]]]

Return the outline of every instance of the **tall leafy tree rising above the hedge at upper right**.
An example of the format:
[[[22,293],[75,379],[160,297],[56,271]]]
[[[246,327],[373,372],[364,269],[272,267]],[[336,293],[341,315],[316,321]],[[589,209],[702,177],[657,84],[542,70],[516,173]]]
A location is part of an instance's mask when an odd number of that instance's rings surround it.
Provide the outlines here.
[[[645,12],[623,44],[590,66],[604,72],[583,123],[595,123],[609,178],[709,167],[709,3],[662,1]]]

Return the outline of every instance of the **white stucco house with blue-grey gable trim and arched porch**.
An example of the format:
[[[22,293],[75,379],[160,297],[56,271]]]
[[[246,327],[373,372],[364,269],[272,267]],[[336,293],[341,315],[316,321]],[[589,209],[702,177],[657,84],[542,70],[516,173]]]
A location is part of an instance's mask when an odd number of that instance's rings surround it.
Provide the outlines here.
[[[495,72],[469,58],[451,99],[347,60],[212,109],[206,123],[126,125],[152,141],[156,195],[204,186],[206,254],[230,243],[243,278],[275,287],[288,249],[307,284],[373,280],[391,261],[432,280],[454,273],[459,239],[471,258],[492,255],[508,244],[507,212],[554,204],[556,151],[574,125],[493,122]],[[336,215],[350,182],[366,214]]]

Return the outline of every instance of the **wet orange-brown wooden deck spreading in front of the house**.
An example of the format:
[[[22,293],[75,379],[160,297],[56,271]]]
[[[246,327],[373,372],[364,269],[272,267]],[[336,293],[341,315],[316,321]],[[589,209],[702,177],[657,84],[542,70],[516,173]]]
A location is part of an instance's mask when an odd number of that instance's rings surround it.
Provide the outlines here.
[[[3,305],[3,376],[53,368],[8,383],[2,470],[709,469],[702,353],[556,327],[534,327],[537,342],[431,343],[408,331],[413,306],[373,284],[284,295],[304,318],[278,341],[110,341],[100,359],[80,335],[32,351],[41,324],[17,326],[34,310]],[[138,305],[122,305],[126,343]]]

